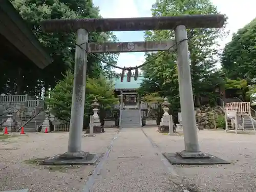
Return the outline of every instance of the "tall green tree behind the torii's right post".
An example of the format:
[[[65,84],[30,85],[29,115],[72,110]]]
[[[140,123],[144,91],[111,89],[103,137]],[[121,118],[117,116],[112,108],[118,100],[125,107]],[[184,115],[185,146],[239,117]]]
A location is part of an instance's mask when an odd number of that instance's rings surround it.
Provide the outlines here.
[[[179,16],[183,14],[218,14],[217,7],[210,0],[159,0],[152,7],[152,16]],[[225,35],[223,29],[187,30],[191,61],[191,78],[195,104],[206,94],[214,93],[214,88],[222,83],[220,72],[216,69],[216,56],[219,54],[217,40]],[[167,40],[174,38],[173,30],[146,31],[145,40]],[[216,45],[216,46],[212,46]],[[156,53],[146,53],[146,61]],[[179,91],[177,80],[177,58],[175,53],[164,53],[143,68],[148,87],[156,86],[161,96],[178,105]],[[142,84],[142,87],[145,84]],[[209,88],[212,88],[209,90]]]

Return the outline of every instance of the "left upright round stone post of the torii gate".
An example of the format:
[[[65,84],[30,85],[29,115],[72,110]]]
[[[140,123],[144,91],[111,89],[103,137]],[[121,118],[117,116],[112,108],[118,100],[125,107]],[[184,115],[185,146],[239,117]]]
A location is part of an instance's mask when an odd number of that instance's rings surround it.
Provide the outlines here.
[[[87,30],[78,29],[76,32],[76,44],[81,45],[87,42]],[[68,152],[63,154],[64,157],[84,158],[89,154],[81,150],[84,101],[86,98],[86,70],[87,53],[80,46],[76,46],[69,144]]]

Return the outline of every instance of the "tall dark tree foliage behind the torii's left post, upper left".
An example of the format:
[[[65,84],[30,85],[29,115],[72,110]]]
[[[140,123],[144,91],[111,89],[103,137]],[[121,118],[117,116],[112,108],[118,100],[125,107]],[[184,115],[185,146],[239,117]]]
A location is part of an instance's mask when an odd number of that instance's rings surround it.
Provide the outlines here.
[[[68,18],[100,18],[99,9],[92,0],[11,0],[13,6],[26,21],[28,27],[36,35],[45,50],[53,58],[44,70],[38,69],[33,63],[18,63],[14,66],[10,62],[2,62],[4,73],[0,77],[0,92],[4,94],[29,94],[43,97],[41,93],[54,88],[62,73],[73,70],[75,56],[75,33],[45,33],[41,31],[39,22],[44,19]],[[90,33],[89,41],[116,41],[113,33]],[[115,64],[116,54],[100,54],[100,58]],[[101,61],[88,55],[87,74],[97,77],[100,74],[111,74],[111,68],[102,65]]]

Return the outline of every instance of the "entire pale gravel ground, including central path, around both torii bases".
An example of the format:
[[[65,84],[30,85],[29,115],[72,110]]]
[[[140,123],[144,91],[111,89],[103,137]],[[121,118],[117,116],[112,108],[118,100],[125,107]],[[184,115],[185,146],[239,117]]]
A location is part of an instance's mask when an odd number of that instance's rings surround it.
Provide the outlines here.
[[[82,150],[104,153],[117,133],[116,129],[105,131],[96,137],[84,137]],[[143,131],[157,146],[152,145]],[[109,157],[103,158],[97,167],[100,167],[99,172],[95,166],[38,166],[29,160],[66,152],[68,133],[31,133],[6,140],[0,137],[0,190],[88,192],[82,189],[84,183],[87,186],[90,183],[88,175],[92,175],[90,191],[93,192],[256,191],[256,135],[199,131],[201,151],[231,164],[170,166],[161,152],[184,150],[183,136],[160,134],[156,128],[143,131],[140,128],[122,129],[113,142]]]

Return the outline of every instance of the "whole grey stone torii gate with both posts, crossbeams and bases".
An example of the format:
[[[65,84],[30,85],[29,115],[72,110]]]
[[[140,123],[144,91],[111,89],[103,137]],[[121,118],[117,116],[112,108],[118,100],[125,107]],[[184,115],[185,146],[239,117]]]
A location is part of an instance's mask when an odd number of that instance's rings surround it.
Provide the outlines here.
[[[68,152],[45,161],[45,164],[82,163],[97,157],[81,150],[85,100],[87,54],[104,52],[176,51],[178,57],[179,94],[185,150],[163,154],[173,164],[225,163],[199,150],[195,109],[189,67],[186,29],[221,28],[224,15],[183,15],[176,17],[55,19],[41,22],[45,32],[76,32],[76,53]],[[175,30],[175,39],[147,42],[88,42],[89,32]],[[171,49],[170,49],[171,48]],[[85,51],[86,50],[86,51]],[[90,158],[89,158],[90,157]]]

